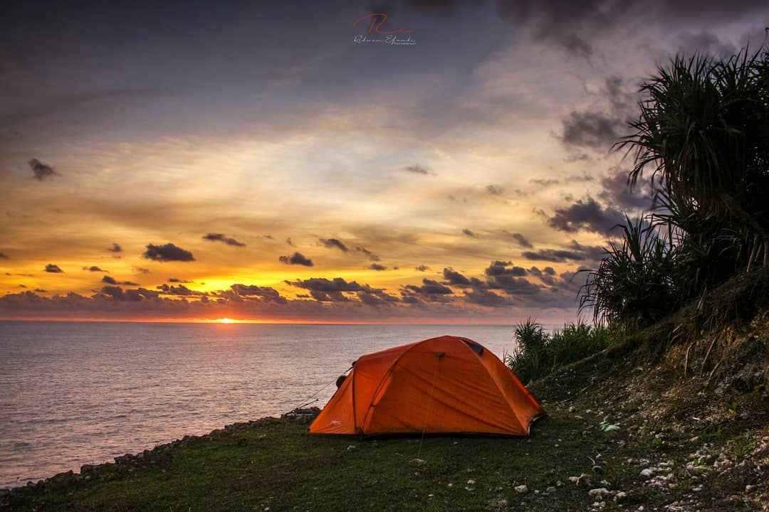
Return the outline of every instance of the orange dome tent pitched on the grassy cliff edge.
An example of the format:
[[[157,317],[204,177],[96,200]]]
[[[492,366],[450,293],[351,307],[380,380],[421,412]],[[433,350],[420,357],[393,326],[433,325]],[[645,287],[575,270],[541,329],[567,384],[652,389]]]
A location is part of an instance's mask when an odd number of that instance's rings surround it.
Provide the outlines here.
[[[361,356],[310,432],[528,435],[542,414],[497,356],[441,336]]]

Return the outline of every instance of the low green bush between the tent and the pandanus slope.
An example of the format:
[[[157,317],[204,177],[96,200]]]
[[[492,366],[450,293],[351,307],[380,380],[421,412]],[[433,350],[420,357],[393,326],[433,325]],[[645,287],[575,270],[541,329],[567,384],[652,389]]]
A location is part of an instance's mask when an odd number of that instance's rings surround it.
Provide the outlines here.
[[[518,346],[504,355],[504,363],[521,382],[542,378],[561,366],[579,361],[607,348],[616,337],[609,329],[583,322],[566,324],[548,334],[532,319],[515,326]]]

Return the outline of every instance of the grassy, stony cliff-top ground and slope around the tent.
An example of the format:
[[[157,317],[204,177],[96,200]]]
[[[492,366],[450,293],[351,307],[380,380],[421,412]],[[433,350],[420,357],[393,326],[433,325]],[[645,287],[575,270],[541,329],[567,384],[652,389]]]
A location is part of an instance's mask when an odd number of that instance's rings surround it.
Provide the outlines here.
[[[236,424],[2,496],[0,510],[767,510],[769,273],[531,385],[531,438]],[[419,460],[417,460],[419,459]]]

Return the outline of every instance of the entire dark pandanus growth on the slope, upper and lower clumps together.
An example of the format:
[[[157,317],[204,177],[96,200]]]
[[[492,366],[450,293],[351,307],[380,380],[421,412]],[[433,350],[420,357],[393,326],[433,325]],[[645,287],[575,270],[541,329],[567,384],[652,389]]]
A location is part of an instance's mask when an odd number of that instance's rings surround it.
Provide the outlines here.
[[[769,50],[677,57],[641,85],[615,145],[657,211],[621,226],[581,289],[596,322],[646,325],[756,262],[769,264]]]

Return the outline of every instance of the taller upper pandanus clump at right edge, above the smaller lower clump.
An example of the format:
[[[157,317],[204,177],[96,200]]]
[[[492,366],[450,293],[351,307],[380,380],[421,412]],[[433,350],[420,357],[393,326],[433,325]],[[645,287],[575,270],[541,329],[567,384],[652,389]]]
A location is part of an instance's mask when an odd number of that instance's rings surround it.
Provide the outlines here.
[[[668,220],[695,237],[714,231],[702,241],[720,256],[731,253],[737,267],[761,255],[769,261],[767,66],[765,48],[725,61],[675,58],[641,86],[634,133],[618,144],[634,154],[631,183],[651,167],[664,183],[664,206],[687,210]]]

